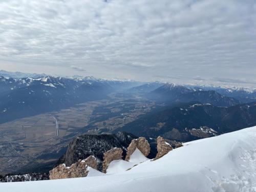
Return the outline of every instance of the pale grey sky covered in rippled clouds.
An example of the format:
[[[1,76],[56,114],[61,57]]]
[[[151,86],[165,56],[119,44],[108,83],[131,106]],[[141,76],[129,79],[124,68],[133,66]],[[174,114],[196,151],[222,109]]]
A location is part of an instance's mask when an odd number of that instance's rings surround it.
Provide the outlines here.
[[[255,0],[1,0],[0,69],[256,83]]]

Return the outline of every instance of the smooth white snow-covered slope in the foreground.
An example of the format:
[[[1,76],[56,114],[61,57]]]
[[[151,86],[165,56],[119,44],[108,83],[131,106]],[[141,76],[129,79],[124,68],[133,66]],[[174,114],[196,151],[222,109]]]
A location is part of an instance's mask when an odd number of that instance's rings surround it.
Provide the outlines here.
[[[256,191],[256,127],[185,143],[101,177],[0,184],[1,191]]]

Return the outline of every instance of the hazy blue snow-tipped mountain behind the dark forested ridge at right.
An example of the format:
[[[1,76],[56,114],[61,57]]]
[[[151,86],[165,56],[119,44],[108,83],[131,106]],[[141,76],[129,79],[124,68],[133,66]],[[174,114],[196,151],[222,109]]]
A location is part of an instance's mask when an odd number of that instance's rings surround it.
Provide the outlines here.
[[[150,97],[163,102],[198,101],[216,106],[232,106],[240,103],[237,99],[223,96],[214,90],[205,91],[203,89],[187,88],[173,83],[166,83],[152,91]]]

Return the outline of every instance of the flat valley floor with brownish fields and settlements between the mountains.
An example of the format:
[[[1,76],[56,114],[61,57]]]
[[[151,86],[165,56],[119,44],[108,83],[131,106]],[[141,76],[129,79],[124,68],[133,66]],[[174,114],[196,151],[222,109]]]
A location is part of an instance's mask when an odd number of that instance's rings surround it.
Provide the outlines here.
[[[111,133],[136,120],[156,103],[134,97],[89,101],[68,109],[0,124],[0,175],[45,171],[65,153],[70,140],[81,134]],[[36,169],[35,169],[36,167]],[[41,168],[42,167],[42,168]]]

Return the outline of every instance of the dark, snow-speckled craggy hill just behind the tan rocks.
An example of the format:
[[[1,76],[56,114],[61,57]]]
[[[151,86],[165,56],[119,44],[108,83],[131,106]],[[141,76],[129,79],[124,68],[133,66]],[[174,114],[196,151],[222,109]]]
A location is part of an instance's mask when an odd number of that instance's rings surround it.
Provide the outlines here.
[[[97,158],[99,170],[102,168],[103,154],[111,148],[119,147],[123,149],[123,157],[126,155],[126,148],[133,139],[137,138],[133,134],[118,132],[113,135],[81,135],[70,142],[67,152],[63,155],[58,164],[65,163],[70,166],[79,159],[86,159],[90,155]]]

